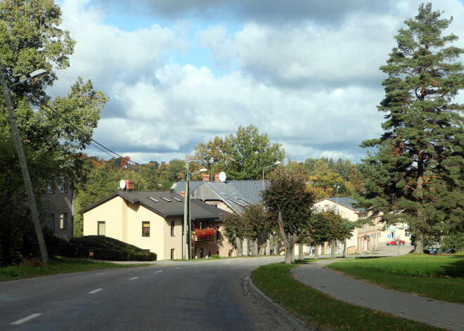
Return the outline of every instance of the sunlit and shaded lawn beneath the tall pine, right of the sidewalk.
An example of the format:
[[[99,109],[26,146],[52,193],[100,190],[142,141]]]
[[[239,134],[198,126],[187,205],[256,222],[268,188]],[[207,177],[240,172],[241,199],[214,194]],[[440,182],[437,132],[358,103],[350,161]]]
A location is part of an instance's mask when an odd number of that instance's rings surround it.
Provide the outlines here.
[[[328,268],[357,279],[412,292],[424,297],[464,304],[464,255],[408,254],[378,259],[356,258]]]

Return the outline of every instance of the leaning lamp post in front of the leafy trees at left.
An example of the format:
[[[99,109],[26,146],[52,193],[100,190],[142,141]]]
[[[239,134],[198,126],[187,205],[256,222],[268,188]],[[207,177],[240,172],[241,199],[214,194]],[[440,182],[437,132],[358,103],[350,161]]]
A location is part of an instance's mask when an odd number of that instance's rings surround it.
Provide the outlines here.
[[[30,179],[29,169],[27,169],[26,157],[25,157],[24,149],[22,148],[22,142],[21,142],[21,138],[20,138],[20,134],[18,130],[18,124],[16,124],[15,112],[13,111],[13,102],[11,101],[11,88],[13,86],[25,83],[29,81],[30,79],[34,79],[34,78],[41,79],[46,74],[47,74],[46,70],[43,70],[43,69],[36,70],[30,74],[29,78],[22,79],[20,82],[11,85],[8,88],[8,85],[6,84],[6,78],[4,75],[4,67],[0,64],[1,89],[3,90],[3,93],[4,93],[6,110],[8,111],[8,118],[10,119],[11,131],[13,132],[13,140],[15,141],[16,150],[18,151],[18,157],[19,157],[21,171],[22,171],[22,178],[24,179],[24,183],[26,186],[27,200],[29,202],[29,207],[31,209],[32,221],[34,222],[34,228],[35,228],[35,233],[37,235],[37,241],[39,242],[40,254],[41,254],[42,262],[44,263],[44,266],[50,266],[50,259],[49,259],[49,254],[46,251],[44,233],[42,233],[42,228],[40,226],[39,212],[37,210],[37,202],[34,196],[34,189],[32,188],[32,181]]]

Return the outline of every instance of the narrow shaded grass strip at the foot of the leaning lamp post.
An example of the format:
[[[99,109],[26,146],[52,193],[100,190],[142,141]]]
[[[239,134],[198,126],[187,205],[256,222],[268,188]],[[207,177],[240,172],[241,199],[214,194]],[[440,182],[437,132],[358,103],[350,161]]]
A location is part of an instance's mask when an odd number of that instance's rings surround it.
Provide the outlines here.
[[[78,273],[107,268],[131,268],[136,266],[150,266],[150,264],[113,264],[110,262],[91,261],[89,259],[68,259],[54,257],[50,261],[50,268],[42,266],[6,266],[0,268],[0,282],[25,278],[57,275],[58,273]]]

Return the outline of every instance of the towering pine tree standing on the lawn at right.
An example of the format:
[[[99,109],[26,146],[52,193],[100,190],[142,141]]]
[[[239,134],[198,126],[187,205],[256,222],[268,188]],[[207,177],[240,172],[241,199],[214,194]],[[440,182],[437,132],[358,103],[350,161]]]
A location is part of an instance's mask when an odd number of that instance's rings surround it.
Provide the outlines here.
[[[387,65],[385,133],[363,141],[377,147],[359,172],[365,181],[363,205],[384,212],[389,223],[406,222],[415,236],[415,252],[423,252],[424,235],[463,228],[464,106],[453,98],[464,87],[462,48],[447,46],[458,37],[443,36],[452,22],[441,19],[432,4],[420,5],[395,37]]]

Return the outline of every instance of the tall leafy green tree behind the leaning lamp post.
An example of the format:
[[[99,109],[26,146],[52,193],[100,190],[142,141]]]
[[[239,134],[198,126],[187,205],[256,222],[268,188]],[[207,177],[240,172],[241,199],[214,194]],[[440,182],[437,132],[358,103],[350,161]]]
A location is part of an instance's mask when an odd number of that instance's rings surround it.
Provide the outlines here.
[[[0,64],[10,86],[34,70],[49,72],[44,79],[18,84],[11,90],[37,197],[46,192],[50,181],[58,181],[59,176],[67,176],[72,183],[85,179],[80,153],[90,142],[108,100],[101,91],[94,90],[90,81],[84,82],[82,78],[77,79],[65,97],[51,100],[46,95],[46,88],[56,80],[55,70],[69,66],[75,46],[69,32],[60,29],[60,22],[60,7],[53,0],[0,2]],[[0,233],[6,238],[0,240],[0,245],[8,246],[8,231],[15,231],[14,225],[19,224],[19,219],[31,218],[24,203],[25,186],[18,156],[12,148],[13,138],[4,101],[3,95],[0,96],[0,180],[2,190],[6,192],[0,194]],[[27,228],[17,228],[22,233],[14,236],[24,240],[23,247],[27,245],[27,238],[32,237]],[[3,249],[3,252],[8,250]]]

